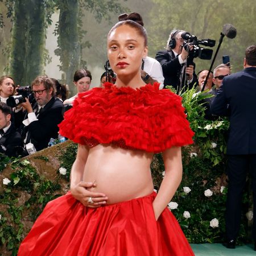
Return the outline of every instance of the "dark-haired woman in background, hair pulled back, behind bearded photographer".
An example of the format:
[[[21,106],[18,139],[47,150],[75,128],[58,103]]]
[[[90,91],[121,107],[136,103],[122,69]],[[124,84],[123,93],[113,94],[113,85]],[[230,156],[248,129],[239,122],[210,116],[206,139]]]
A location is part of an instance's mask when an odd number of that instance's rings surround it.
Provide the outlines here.
[[[76,86],[77,93],[87,92],[90,89],[90,83],[92,82],[92,74],[89,70],[79,69],[75,72],[73,83]],[[63,102],[64,105],[72,105],[73,101],[77,98],[77,94],[71,98],[68,98]]]

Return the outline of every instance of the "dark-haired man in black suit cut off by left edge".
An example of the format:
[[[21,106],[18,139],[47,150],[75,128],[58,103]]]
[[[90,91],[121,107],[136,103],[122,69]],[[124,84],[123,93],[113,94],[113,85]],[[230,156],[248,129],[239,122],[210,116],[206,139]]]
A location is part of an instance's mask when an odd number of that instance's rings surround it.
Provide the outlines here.
[[[11,123],[11,108],[0,102],[0,153],[9,157],[22,154],[22,137]]]

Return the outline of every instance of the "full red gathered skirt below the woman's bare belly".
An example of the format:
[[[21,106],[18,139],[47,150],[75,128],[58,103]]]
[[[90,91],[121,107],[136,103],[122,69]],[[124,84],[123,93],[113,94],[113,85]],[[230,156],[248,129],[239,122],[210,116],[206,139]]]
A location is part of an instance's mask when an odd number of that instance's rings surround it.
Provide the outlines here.
[[[18,256],[194,255],[168,208],[155,220],[155,196],[88,208],[68,192],[46,205]]]

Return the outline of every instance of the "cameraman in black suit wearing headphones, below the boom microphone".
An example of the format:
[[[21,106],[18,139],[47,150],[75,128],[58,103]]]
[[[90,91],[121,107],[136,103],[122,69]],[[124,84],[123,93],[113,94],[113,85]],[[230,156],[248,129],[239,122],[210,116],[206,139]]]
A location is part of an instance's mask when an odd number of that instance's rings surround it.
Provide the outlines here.
[[[183,32],[185,31],[172,30],[167,40],[166,50],[156,53],[155,59],[159,61],[163,69],[164,88],[166,85],[171,85],[179,90],[183,88],[184,82],[185,86],[191,88],[197,81],[194,72],[195,63],[185,68],[188,52],[183,48],[184,40],[181,38]]]

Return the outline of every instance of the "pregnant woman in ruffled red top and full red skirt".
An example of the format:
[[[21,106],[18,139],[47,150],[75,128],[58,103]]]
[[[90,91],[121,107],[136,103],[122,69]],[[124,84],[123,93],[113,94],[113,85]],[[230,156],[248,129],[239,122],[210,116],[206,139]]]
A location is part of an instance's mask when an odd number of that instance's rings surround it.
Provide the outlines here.
[[[71,192],[47,204],[18,255],[193,255],[166,207],[181,181],[180,146],[193,132],[180,97],[141,79],[146,55],[141,25],[126,20],[110,30],[116,84],[79,94],[65,113],[60,133],[79,143]],[[150,163],[162,151],[156,194]]]

